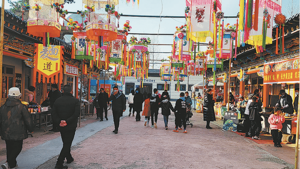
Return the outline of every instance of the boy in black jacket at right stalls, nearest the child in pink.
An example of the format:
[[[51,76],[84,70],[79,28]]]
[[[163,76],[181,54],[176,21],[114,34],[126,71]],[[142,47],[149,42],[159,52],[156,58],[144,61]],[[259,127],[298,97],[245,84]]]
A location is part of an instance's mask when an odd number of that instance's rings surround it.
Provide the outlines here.
[[[259,112],[263,111],[262,107],[258,103],[257,97],[252,98],[252,103],[249,106],[249,119],[251,121],[251,136],[252,139],[261,140],[259,133],[262,129],[262,118],[260,117]]]

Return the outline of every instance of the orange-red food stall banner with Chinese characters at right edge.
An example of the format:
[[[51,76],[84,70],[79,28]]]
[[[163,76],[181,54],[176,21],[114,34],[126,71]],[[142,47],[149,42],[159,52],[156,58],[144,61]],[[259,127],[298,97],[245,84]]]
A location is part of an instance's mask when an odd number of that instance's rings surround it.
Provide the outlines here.
[[[264,64],[263,84],[298,83],[299,58]]]

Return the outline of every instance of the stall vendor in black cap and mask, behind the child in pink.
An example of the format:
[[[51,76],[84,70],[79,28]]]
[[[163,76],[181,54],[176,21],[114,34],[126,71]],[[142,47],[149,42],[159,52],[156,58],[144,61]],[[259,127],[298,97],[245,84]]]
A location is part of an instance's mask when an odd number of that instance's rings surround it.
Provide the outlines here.
[[[275,107],[280,107],[284,113],[293,114],[293,99],[290,95],[286,94],[285,90],[280,90],[281,95]]]

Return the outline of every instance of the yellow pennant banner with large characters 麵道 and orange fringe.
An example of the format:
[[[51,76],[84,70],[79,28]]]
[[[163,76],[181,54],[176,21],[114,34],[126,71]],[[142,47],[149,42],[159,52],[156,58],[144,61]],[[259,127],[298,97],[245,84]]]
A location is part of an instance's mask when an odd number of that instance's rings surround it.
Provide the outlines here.
[[[36,55],[34,56],[34,76],[38,72],[39,78],[38,82],[41,82],[41,75],[43,75],[43,82],[45,78],[49,80],[51,78],[51,83],[54,82],[54,76],[60,73],[60,77],[56,76],[56,82],[58,79],[60,83],[62,82],[62,54],[63,46],[43,46],[42,44],[35,44]],[[34,77],[36,79],[36,77]]]

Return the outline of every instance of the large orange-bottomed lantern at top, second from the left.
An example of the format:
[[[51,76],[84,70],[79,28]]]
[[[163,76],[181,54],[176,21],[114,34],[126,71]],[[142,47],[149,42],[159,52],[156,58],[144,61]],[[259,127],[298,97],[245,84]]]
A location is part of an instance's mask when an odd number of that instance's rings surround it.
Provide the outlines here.
[[[99,47],[103,46],[104,42],[116,40],[117,28],[114,13],[119,0],[83,0],[82,2],[88,9],[87,38],[97,41]]]

